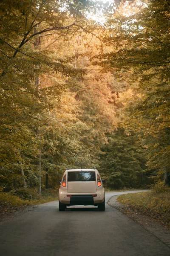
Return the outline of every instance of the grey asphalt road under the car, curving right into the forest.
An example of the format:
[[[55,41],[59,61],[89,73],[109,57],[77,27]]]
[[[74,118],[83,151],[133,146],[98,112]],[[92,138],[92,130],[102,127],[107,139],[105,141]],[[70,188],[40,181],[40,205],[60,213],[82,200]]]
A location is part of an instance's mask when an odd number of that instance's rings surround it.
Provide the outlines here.
[[[106,202],[116,194],[106,193]],[[59,255],[170,256],[170,247],[108,204],[105,212],[96,207],[59,212],[54,201],[0,225],[0,256]]]

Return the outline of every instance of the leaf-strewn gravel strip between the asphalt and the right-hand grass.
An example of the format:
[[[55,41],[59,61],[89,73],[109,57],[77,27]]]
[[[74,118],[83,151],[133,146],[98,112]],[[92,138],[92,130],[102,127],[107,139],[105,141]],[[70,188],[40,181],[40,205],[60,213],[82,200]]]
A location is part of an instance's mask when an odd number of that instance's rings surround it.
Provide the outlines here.
[[[137,222],[139,225],[144,227],[147,231],[156,236],[160,241],[170,247],[170,229],[168,227],[161,224],[159,221],[156,221],[149,216],[142,215],[139,212],[130,209],[130,207],[125,206],[124,204],[119,203],[116,198],[119,195],[113,196],[108,204],[111,207],[115,207],[119,209],[122,213],[133,219],[133,221]]]

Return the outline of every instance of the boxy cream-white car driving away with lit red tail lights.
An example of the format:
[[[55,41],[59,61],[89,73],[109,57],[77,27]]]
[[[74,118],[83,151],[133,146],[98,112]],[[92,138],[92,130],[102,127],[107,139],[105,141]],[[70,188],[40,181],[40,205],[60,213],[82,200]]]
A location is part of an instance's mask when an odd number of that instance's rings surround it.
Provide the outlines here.
[[[59,211],[71,205],[94,205],[105,210],[105,180],[96,169],[67,169],[58,183]]]

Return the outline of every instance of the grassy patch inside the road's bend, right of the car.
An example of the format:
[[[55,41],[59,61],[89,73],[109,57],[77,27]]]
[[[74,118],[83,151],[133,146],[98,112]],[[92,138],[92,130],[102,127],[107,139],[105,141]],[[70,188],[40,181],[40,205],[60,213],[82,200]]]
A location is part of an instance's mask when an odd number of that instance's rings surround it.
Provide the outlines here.
[[[150,192],[120,195],[117,201],[170,227],[170,188],[160,183]]]

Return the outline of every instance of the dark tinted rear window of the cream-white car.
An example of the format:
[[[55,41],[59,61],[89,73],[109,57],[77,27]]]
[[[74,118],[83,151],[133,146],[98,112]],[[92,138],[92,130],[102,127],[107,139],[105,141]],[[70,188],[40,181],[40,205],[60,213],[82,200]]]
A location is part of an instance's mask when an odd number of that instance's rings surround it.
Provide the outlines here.
[[[96,181],[96,173],[88,171],[68,172],[68,181]]]

